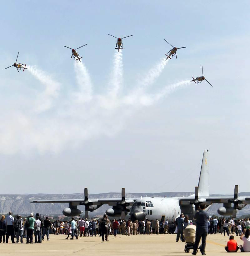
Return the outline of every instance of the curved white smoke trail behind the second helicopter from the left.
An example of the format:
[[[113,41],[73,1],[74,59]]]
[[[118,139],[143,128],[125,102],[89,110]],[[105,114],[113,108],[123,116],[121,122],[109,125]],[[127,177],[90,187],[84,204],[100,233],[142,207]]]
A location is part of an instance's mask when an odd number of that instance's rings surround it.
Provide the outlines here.
[[[74,93],[78,102],[87,102],[92,100],[92,83],[90,75],[84,63],[75,62],[76,80],[79,86],[79,91]]]

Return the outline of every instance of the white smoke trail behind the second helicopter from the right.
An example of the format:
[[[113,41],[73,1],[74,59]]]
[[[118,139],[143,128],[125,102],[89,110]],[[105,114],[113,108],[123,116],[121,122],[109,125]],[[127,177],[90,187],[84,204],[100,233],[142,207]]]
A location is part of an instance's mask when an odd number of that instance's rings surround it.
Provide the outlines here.
[[[161,58],[160,62],[150,69],[148,73],[144,76],[143,79],[139,81],[140,87],[148,87],[149,85],[153,84],[159,75],[162,73],[164,67],[168,63],[169,59]]]

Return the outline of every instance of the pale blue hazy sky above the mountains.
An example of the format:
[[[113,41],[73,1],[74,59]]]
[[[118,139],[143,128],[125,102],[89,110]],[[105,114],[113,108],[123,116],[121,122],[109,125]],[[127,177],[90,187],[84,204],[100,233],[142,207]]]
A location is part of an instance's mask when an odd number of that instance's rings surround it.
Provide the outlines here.
[[[236,183],[240,192],[249,191],[243,181],[249,172],[249,7],[248,1],[240,6],[234,1],[2,5],[0,161],[14,188],[3,185],[1,192],[82,192],[86,186],[92,193],[121,187],[128,192],[193,191],[206,148],[211,192],[232,193]],[[116,39],[107,33],[133,34],[123,40],[122,62],[117,62],[121,69],[114,68]],[[190,83],[152,104],[124,105],[123,95],[132,97],[171,49],[164,38],[187,48],[178,50],[178,59],[164,66],[141,98],[201,75],[201,64],[213,87]],[[79,54],[87,73],[78,77],[79,67],[63,45],[83,44],[88,45]],[[27,70],[4,70],[18,50],[18,61],[36,66],[40,80]],[[100,95],[109,90],[115,70],[122,70],[122,96],[110,101]],[[47,77],[52,80],[46,87],[41,79]],[[91,79],[95,95],[84,105],[69,97],[75,91],[79,96],[81,79]],[[42,178],[27,188],[19,185],[17,172],[40,173]],[[72,174],[83,177],[74,190],[42,189],[47,177],[54,181]],[[128,177],[138,179],[137,184]]]

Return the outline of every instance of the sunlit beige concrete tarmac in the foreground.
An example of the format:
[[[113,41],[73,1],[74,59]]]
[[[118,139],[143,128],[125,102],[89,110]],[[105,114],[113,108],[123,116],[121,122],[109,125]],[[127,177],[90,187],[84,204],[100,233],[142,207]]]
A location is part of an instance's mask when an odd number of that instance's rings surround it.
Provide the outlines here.
[[[233,234],[235,235],[235,234]],[[0,256],[120,256],[120,255],[138,255],[143,256],[167,256],[167,255],[192,255],[184,252],[185,243],[176,243],[176,234],[166,235],[134,235],[114,237],[110,235],[108,242],[102,242],[102,238],[97,237],[79,237],[78,240],[66,240],[66,235],[50,235],[50,241],[44,239],[41,244],[0,244]],[[16,239],[15,239],[16,240]],[[34,240],[34,239],[33,239]],[[239,237],[235,236],[238,245],[243,244]],[[207,236],[207,255],[221,255],[227,253],[224,249],[228,237],[221,234]],[[198,251],[197,255],[201,255]]]

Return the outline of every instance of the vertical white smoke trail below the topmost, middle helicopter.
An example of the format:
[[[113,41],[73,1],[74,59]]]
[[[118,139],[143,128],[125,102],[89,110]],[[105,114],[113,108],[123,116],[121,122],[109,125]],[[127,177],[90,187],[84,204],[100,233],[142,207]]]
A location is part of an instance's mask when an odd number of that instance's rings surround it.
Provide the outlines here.
[[[116,97],[123,85],[123,54],[115,51],[113,60],[113,73],[111,78],[111,88],[109,94]]]

